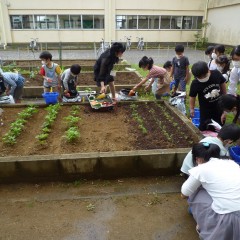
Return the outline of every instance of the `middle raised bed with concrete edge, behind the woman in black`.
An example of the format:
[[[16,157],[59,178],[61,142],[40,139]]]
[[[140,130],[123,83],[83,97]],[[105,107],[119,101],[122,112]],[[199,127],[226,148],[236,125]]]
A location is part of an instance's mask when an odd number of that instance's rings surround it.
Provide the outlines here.
[[[23,97],[33,98],[42,97],[43,78],[40,75],[35,75],[30,78],[29,75],[23,75],[26,79]],[[138,72],[122,71],[116,72],[115,85],[116,89],[120,90],[126,87],[133,87],[141,81],[141,77]],[[92,90],[96,90],[96,82],[94,81],[93,72],[83,72],[80,74],[79,89],[84,90],[87,87],[91,87]]]

